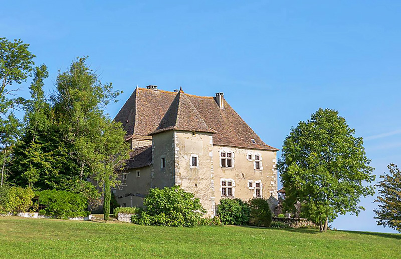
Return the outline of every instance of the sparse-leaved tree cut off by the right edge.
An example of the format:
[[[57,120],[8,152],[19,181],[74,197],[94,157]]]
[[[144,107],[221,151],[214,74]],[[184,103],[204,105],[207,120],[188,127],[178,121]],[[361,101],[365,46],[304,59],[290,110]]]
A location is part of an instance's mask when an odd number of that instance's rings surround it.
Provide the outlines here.
[[[401,169],[395,164],[387,166],[389,173],[380,175],[376,185],[380,195],[374,202],[380,203],[374,212],[378,225],[388,226],[401,232]]]

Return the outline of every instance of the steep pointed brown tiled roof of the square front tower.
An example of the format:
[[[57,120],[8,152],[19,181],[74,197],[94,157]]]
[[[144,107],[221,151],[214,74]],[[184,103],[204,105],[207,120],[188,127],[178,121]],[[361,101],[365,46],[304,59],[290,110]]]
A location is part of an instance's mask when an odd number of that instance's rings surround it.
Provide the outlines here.
[[[150,135],[168,131],[184,130],[216,133],[206,125],[188,97],[179,89],[170,107],[161,119],[159,126]]]

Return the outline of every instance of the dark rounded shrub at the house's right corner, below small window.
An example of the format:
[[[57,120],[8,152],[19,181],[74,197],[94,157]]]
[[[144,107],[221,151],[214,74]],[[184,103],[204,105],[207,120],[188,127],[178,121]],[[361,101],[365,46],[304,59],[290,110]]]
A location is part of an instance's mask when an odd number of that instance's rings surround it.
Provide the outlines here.
[[[272,222],[272,211],[269,202],[263,198],[255,198],[249,201],[251,213],[249,224],[254,226],[269,227]]]

